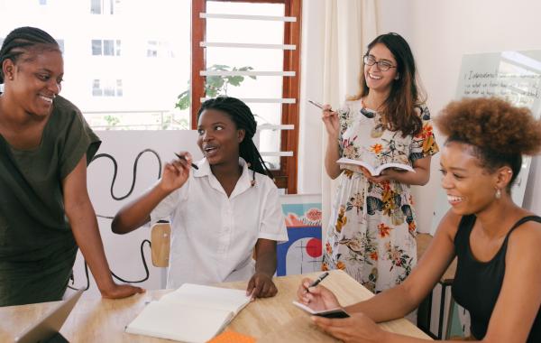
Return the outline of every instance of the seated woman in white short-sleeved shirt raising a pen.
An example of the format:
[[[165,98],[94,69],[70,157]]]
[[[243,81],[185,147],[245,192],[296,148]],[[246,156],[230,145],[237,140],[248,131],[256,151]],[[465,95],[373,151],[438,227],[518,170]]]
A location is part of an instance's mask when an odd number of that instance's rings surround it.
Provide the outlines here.
[[[168,288],[249,279],[253,298],[274,296],[276,244],[288,234],[278,189],[252,142],[252,111],[237,98],[217,97],[202,104],[197,119],[205,156],[198,169],[191,170],[189,153],[179,153],[151,190],[116,214],[113,231],[169,217]]]

